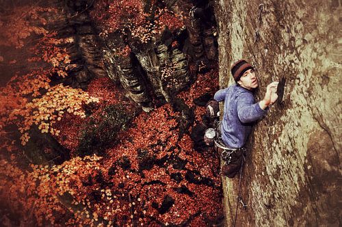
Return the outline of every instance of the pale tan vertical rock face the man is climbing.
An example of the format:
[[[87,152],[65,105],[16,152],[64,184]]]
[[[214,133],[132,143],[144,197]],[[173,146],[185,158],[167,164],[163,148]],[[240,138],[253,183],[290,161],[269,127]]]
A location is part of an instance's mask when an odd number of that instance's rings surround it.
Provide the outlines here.
[[[220,85],[248,59],[262,98],[285,77],[282,103],[248,142],[237,226],[341,225],[341,1],[237,1],[215,5]],[[224,178],[226,225],[233,226],[239,179]]]

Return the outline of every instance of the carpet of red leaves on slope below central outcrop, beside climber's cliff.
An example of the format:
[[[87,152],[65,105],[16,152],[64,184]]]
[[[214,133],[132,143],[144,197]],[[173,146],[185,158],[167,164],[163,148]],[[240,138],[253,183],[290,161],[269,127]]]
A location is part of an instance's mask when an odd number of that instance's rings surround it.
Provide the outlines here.
[[[145,205],[144,207],[135,206],[135,211],[138,211],[137,213],[146,211],[146,215],[143,216],[146,221],[142,222],[144,225],[154,223],[150,217],[154,217],[164,224],[181,224],[198,211],[202,211],[203,215],[213,219],[222,215],[222,194],[218,189],[220,187],[220,176],[217,176],[217,173],[212,170],[213,166],[219,165],[219,161],[210,152],[201,155],[193,150],[192,140],[188,135],[184,135],[180,141],[177,141],[177,116],[178,114],[175,114],[169,105],[159,107],[151,114],[141,114],[134,121],[137,127],[123,133],[121,135],[122,143],[108,150],[109,157],[107,157],[107,161],[105,160],[107,163],[105,165],[111,166],[112,163],[116,163],[123,157],[129,157],[131,161],[131,169],[135,172],[119,170],[116,176],[126,177],[113,178],[111,181],[114,185],[124,183],[124,190],[130,191],[133,196],[140,195],[139,198],[145,202]],[[137,150],[146,150],[148,155],[155,155],[155,159],[161,159],[166,155],[172,157],[178,153],[181,159],[188,161],[186,165],[188,170],[199,170],[201,177],[213,179],[215,187],[196,185],[187,181],[176,183],[170,174],[179,172],[185,178],[187,171],[176,170],[170,163],[166,164],[166,168],[154,165],[151,170],[143,170],[145,177],[142,178],[140,174],[136,174],[140,163]],[[144,183],[150,181],[161,181],[166,186],[144,186]],[[174,189],[181,187],[181,185],[185,185],[194,193],[194,196],[176,193]],[[153,202],[161,204],[165,196],[174,198],[175,203],[167,213],[159,215],[152,204]],[[192,224],[202,226],[205,224],[205,220],[198,219],[198,222],[192,222]]]

